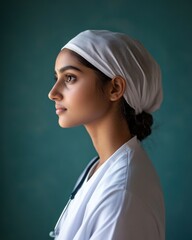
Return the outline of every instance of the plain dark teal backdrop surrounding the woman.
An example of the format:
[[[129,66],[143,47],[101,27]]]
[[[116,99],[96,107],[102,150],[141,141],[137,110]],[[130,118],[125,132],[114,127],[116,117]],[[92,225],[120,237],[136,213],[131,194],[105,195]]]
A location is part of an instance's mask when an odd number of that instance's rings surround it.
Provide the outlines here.
[[[1,236],[49,239],[70,191],[95,156],[83,127],[61,129],[47,94],[55,57],[85,29],[138,38],[162,68],[164,102],[144,143],[159,173],[166,239],[192,239],[191,1],[4,1],[1,4]]]

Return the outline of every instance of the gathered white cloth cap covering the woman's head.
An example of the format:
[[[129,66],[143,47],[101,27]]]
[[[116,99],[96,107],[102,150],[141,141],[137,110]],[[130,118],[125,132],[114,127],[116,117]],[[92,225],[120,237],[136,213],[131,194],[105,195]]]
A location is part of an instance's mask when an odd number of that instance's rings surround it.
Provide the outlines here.
[[[123,33],[87,30],[63,48],[78,53],[110,78],[122,76],[127,83],[124,98],[136,114],[151,113],[160,107],[161,71],[138,41]]]

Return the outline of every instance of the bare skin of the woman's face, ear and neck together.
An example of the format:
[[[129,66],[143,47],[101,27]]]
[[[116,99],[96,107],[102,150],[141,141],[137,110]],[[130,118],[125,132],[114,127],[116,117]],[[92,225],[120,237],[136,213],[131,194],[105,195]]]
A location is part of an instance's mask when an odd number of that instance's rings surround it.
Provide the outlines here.
[[[55,102],[59,125],[63,128],[85,126],[100,157],[96,171],[131,138],[120,111],[125,80],[117,76],[101,91],[95,71],[79,63],[68,49],[57,56],[55,76],[49,98]]]

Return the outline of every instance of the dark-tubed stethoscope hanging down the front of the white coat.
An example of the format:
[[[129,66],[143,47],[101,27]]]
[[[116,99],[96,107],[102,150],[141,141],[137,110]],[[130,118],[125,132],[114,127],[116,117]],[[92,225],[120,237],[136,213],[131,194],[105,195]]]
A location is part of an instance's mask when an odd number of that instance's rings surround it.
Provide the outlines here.
[[[63,215],[65,214],[71,200],[73,200],[75,198],[75,195],[77,194],[77,192],[79,191],[79,189],[81,188],[81,186],[83,185],[87,175],[89,174],[89,171],[90,169],[93,167],[93,165],[98,161],[99,157],[95,157],[92,159],[92,161],[90,161],[90,163],[87,165],[86,169],[84,170],[84,172],[82,173],[82,177],[80,177],[80,180],[77,182],[77,184],[75,185],[75,188],[73,189],[71,195],[70,195],[70,198],[65,206],[65,208],[63,209],[56,225],[55,225],[55,228],[53,231],[51,231],[49,233],[49,236],[52,237],[52,238],[55,238],[56,236],[59,235],[59,230],[60,230],[60,222],[61,222],[61,219],[63,218]]]

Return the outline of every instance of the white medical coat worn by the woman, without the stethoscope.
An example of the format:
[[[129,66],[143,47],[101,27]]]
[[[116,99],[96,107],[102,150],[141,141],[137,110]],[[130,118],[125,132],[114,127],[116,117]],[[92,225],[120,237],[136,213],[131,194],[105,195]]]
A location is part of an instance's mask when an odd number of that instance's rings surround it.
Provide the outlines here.
[[[55,240],[164,240],[159,179],[136,137],[88,180],[63,214]]]

